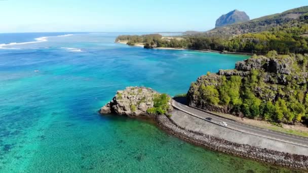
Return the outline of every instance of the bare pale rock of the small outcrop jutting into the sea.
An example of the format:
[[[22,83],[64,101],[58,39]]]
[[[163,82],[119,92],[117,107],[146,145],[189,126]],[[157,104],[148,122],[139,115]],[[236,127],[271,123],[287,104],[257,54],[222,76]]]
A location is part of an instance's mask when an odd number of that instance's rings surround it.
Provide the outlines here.
[[[101,114],[117,113],[127,116],[153,116],[153,113],[149,113],[147,110],[155,107],[155,98],[158,96],[160,94],[150,88],[130,86],[123,91],[118,91],[117,95],[99,112]],[[167,104],[170,105],[167,112],[172,111],[171,99]]]

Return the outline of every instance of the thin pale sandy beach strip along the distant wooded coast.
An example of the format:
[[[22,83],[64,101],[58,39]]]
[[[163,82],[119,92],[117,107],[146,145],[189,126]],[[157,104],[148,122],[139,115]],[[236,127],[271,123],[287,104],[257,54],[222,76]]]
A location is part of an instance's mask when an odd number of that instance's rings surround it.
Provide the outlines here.
[[[127,41],[120,41],[120,42],[115,42],[117,44],[126,44]],[[129,46],[135,46],[135,47],[144,47],[144,45],[141,44],[135,44],[135,45],[129,45]],[[160,49],[160,50],[182,50],[182,51],[198,51],[198,52],[204,52],[204,53],[219,53],[219,54],[231,54],[231,55],[247,55],[247,56],[252,56],[253,54],[249,53],[242,53],[242,52],[221,52],[221,51],[213,51],[213,50],[207,50],[207,49],[189,49],[189,48],[153,48],[153,49]]]

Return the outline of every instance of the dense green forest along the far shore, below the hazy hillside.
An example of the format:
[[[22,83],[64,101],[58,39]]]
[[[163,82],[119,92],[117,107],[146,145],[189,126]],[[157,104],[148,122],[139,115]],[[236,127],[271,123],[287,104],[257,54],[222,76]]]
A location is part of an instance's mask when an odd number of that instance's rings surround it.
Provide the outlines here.
[[[181,39],[179,39],[181,38]],[[186,48],[194,50],[214,50],[266,54],[276,50],[279,54],[308,53],[308,13],[268,31],[245,33],[235,36],[196,33],[165,39],[160,34],[120,35],[118,40],[126,40],[128,45],[143,43],[144,48]]]

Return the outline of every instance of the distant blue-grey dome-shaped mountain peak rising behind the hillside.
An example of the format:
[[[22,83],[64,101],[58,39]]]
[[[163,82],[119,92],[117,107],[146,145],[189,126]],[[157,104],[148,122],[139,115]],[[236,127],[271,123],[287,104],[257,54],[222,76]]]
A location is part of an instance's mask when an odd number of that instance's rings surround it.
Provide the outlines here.
[[[234,10],[232,12],[229,12],[227,14],[220,16],[216,20],[215,26],[221,27],[221,26],[225,26],[225,25],[247,22],[247,21],[249,21],[249,16],[245,12]]]

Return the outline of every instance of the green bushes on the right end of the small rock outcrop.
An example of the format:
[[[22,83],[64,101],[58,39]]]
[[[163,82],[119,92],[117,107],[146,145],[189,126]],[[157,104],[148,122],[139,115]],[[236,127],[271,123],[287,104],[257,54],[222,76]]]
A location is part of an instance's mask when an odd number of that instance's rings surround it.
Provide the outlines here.
[[[157,94],[153,99],[154,105],[153,108],[147,109],[147,113],[150,114],[166,114],[169,109],[169,102],[170,97],[167,94]]]

